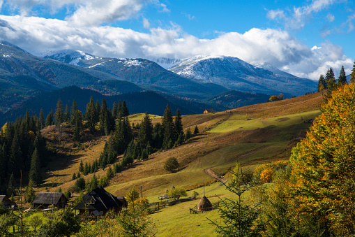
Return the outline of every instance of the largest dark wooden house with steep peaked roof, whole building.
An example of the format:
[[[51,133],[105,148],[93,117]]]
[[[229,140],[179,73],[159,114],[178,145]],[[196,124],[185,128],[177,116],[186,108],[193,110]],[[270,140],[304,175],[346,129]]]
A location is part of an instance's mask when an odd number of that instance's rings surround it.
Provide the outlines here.
[[[118,213],[122,210],[124,203],[119,201],[116,196],[106,192],[106,190],[98,185],[96,189],[88,192],[80,203],[74,207],[79,210],[79,214],[88,213],[89,215],[105,215],[108,210],[114,210]]]

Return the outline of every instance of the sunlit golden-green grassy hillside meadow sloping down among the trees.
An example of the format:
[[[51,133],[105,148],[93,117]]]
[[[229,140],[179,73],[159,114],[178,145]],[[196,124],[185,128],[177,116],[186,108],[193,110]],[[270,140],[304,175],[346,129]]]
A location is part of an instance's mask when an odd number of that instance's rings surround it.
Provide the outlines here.
[[[143,195],[151,202],[158,201],[158,196],[171,187],[172,182],[175,187],[187,189],[200,187],[197,192],[202,194],[201,186],[213,182],[213,179],[204,173],[204,168],[212,168],[222,175],[235,165],[236,158],[244,166],[244,170],[253,169],[256,165],[265,162],[288,159],[292,147],[300,141],[300,137],[305,134],[305,129],[310,126],[304,120],[320,114],[322,101],[322,94],[315,93],[284,101],[237,108],[227,113],[183,116],[184,129],[188,127],[193,129],[197,125],[199,131],[204,132],[179,147],[156,152],[149,159],[136,162],[123,171],[121,176],[116,175],[109,180],[109,185],[105,189],[112,194],[122,196],[130,189],[140,189],[142,186]],[[130,117],[131,122],[135,124],[140,119],[142,115]],[[154,117],[153,123],[160,120],[161,117]],[[84,143],[86,145],[84,150],[66,157],[57,157],[56,161],[50,164],[53,168],[48,173],[46,184],[63,183],[61,185],[63,191],[72,186],[74,181],[70,180],[73,172],[78,171],[80,160],[92,162],[98,159],[105,139],[107,139],[105,136],[96,137],[95,140],[88,138]],[[66,146],[70,148],[70,144]],[[178,172],[166,173],[163,170],[163,164],[168,157],[178,159],[181,164]],[[96,175],[105,175],[105,171],[100,170]],[[86,175],[85,179],[91,179],[92,175]],[[206,187],[206,191],[213,189],[212,192],[206,193],[212,202],[218,199],[215,194],[220,197],[230,195],[224,188],[216,189],[217,186],[218,183],[212,183],[211,186]],[[56,189],[58,187],[50,190]],[[177,224],[181,227],[179,227],[179,236],[191,236],[191,229],[201,231],[198,236],[201,236],[201,233],[205,236],[213,236],[212,227],[206,224],[208,220],[204,217],[216,220],[218,213],[213,210],[202,215],[190,215],[188,208],[192,208],[197,203],[198,201],[181,203],[153,214],[153,219],[158,222],[159,236],[176,235]]]

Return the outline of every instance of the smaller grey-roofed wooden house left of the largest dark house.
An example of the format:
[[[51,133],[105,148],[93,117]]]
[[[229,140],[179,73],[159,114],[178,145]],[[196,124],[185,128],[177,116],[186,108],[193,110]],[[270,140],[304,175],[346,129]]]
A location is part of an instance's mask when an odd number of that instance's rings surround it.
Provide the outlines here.
[[[33,207],[46,209],[53,205],[56,208],[64,208],[68,199],[62,192],[39,192],[33,200]]]

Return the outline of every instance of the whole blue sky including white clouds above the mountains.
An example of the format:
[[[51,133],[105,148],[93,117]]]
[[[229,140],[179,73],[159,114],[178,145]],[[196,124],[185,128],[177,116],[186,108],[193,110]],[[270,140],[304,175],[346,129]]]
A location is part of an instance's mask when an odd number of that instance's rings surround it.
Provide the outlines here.
[[[317,80],[351,73],[354,0],[0,0],[0,40],[33,55],[239,57]]]

